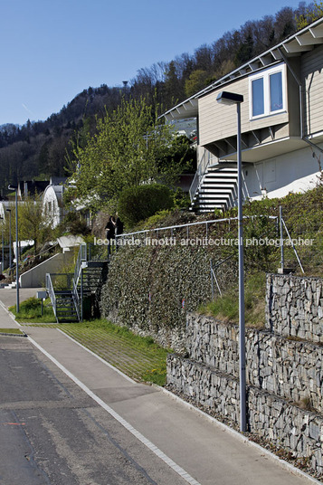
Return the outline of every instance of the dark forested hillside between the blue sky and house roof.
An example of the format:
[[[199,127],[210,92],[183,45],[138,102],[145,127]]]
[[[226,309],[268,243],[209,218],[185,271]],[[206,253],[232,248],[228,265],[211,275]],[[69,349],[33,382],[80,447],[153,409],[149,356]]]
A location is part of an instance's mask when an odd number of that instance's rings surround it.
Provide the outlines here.
[[[17,180],[69,175],[66,156],[71,150],[71,138],[78,137],[81,142],[82,130],[95,129],[95,116],[102,117],[106,109],[116,109],[122,98],[148,97],[166,110],[295,33],[298,19],[310,21],[313,15],[320,14],[318,10],[317,3],[301,2],[296,10],[284,7],[277,14],[249,21],[239,30],[224,33],[211,45],[196,48],[193,54],[184,52],[170,62],[141,68],[135,79],[121,87],[102,84],[100,88],[83,90],[45,121],[28,120],[23,127],[3,125],[0,127],[1,196],[5,196],[7,185]]]

